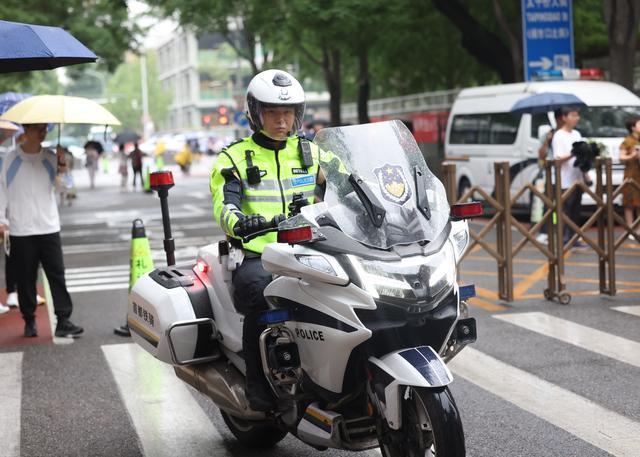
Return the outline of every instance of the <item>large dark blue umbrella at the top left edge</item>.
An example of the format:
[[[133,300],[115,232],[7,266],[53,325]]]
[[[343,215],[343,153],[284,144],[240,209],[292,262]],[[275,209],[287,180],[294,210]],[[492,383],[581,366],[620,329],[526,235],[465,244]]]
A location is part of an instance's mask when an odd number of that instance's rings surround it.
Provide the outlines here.
[[[48,70],[97,58],[60,27],[0,21],[0,73]]]

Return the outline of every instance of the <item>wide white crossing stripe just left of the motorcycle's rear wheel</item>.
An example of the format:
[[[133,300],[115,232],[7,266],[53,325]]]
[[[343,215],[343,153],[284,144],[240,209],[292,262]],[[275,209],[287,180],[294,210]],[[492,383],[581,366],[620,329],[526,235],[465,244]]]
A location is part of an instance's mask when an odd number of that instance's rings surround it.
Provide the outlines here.
[[[102,351],[144,455],[228,454],[220,434],[169,365],[135,344],[106,345]]]

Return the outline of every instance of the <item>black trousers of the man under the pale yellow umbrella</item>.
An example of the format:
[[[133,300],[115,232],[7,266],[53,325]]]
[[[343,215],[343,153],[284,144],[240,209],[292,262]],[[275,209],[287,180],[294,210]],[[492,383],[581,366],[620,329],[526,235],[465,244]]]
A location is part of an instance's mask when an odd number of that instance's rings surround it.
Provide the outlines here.
[[[11,235],[11,258],[18,278],[18,301],[25,321],[35,319],[38,264],[42,264],[53,297],[58,322],[71,316],[73,305],[64,280],[64,262],[60,233],[47,235]]]

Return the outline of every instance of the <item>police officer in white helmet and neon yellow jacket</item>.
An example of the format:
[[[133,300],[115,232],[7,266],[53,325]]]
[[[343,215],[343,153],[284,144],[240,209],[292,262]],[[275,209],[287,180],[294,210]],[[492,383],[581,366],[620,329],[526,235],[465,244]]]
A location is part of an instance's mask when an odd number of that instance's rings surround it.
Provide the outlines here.
[[[242,344],[246,362],[247,397],[251,409],[269,411],[275,399],[260,363],[258,317],[267,308],[263,291],[271,273],[260,255],[276,241],[268,233],[242,243],[241,237],[269,228],[284,219],[294,194],[311,199],[319,175],[319,150],[296,136],[305,109],[304,90],[290,74],[266,70],[247,88],[247,117],[253,135],[222,150],[211,174],[213,211],[229,241],[244,250],[233,271],[234,302],[244,317]]]

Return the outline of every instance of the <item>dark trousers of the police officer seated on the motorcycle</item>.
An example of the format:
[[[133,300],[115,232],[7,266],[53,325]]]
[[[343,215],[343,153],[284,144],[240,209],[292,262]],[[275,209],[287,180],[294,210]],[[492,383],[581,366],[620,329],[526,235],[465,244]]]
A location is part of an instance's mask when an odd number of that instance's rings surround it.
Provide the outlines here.
[[[268,308],[263,292],[272,279],[271,273],[262,268],[260,257],[244,259],[242,265],[233,272],[234,303],[236,309],[244,314],[242,349],[249,383],[264,379],[258,344],[264,326],[258,325],[258,318]]]

